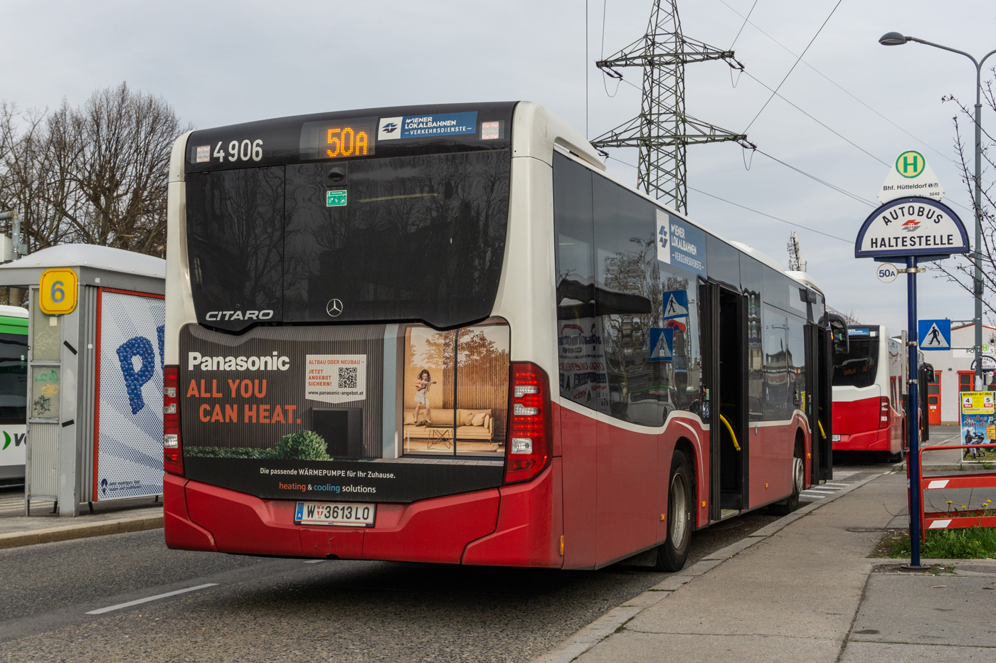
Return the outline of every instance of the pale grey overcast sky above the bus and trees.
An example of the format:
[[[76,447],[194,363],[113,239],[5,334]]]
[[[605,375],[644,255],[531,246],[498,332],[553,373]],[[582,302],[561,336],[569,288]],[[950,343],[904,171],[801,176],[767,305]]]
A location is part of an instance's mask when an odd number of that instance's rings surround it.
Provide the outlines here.
[[[750,77],[775,88],[837,4],[689,0],[679,10],[686,36],[721,48],[736,39],[736,57]],[[639,111],[639,91],[605,79],[594,61],[643,34],[651,2],[588,0],[587,59],[583,0],[3,0],[0,6],[0,100],[22,109],[55,108],[63,99],[81,104],[95,89],[122,81],[162,96],[198,127],[322,110],[529,100],[595,137]],[[996,4],[843,0],[780,94],[857,146],[778,98],[748,137],[771,156],[869,201],[895,157],[917,149],[945,187],[945,201],[971,228],[970,196],[952,160],[957,109],[941,97],[972,104],[974,68],[962,56],[919,44],[879,46],[878,37],[893,30],[980,57],[996,48]],[[996,56],[987,69],[992,65]],[[624,75],[640,85],[639,70]],[[742,131],[771,96],[750,77],[731,77],[722,62],[687,67],[688,112]],[[996,128],[993,112],[984,112],[983,125]],[[624,150],[614,156],[636,160]],[[632,168],[615,161],[610,167],[634,183]],[[732,143],[690,148],[688,184],[843,238],[689,191],[693,219],[783,265],[796,230],[810,276],[831,306],[893,332],[905,328],[904,278],[880,284],[871,260],[853,257],[871,204],[762,154],[751,159]],[[971,297],[956,286],[929,275],[919,284],[920,318],[972,317]]]

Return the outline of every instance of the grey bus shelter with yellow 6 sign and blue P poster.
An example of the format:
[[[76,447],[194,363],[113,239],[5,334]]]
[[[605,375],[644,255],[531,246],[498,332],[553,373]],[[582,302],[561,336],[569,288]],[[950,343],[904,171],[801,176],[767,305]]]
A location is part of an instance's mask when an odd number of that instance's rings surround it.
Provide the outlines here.
[[[49,270],[75,308],[48,315]],[[65,273],[64,273],[65,274]],[[162,493],[165,261],[86,244],[0,265],[0,287],[29,290],[25,513],[55,501],[61,516],[95,502]],[[52,286],[56,288],[56,286]]]

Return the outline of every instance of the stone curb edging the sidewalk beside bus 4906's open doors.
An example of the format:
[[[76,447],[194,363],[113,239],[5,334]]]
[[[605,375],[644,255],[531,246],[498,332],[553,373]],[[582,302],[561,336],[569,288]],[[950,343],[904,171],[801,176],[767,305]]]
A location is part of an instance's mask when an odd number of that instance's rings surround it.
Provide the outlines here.
[[[825,504],[830,504],[834,500],[844,497],[848,493],[856,491],[865,484],[868,484],[878,477],[886,474],[889,473],[882,472],[881,474],[876,474],[868,479],[863,479],[857,484],[852,484],[851,486],[841,489],[833,495],[823,498],[819,502],[813,502],[797,511],[792,512],[788,516],[783,516],[774,523],[766,525],[754,534],[749,535],[744,539],[727,546],[726,548],[722,548],[702,557],[691,566],[673,573],[643,593],[638,594],[622,603],[622,605],[613,608],[588,626],[585,626],[580,631],[569,637],[554,649],[551,649],[547,653],[541,654],[540,656],[532,659],[531,663],[571,663],[571,661],[575,660],[589,649],[615,633],[620,626],[635,617],[637,614],[662,601],[678,587],[691,582],[699,575],[709,572],[727,559],[735,556],[738,552],[746,551],[751,546],[754,546],[768,537],[777,534],[786,526],[795,523],[803,516],[813,513]]]

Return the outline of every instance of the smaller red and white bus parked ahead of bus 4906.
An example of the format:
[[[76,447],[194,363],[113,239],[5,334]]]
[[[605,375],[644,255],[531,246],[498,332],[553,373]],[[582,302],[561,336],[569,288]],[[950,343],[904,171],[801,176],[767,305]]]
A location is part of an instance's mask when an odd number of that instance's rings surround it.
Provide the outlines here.
[[[898,460],[906,448],[905,353],[879,325],[849,325],[834,355],[834,451]]]

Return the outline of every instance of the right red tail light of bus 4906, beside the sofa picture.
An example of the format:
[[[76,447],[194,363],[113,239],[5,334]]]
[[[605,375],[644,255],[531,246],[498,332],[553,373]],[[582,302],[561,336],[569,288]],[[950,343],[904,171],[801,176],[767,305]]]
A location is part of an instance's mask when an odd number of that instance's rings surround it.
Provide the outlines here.
[[[550,381],[533,363],[513,363],[509,380],[505,483],[529,481],[550,461]]]

